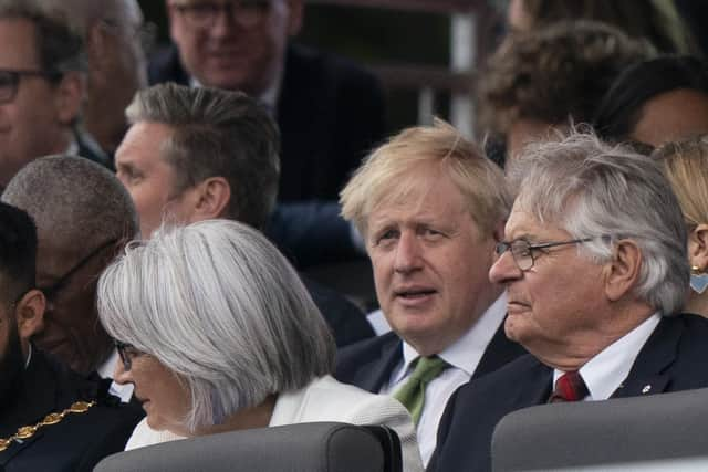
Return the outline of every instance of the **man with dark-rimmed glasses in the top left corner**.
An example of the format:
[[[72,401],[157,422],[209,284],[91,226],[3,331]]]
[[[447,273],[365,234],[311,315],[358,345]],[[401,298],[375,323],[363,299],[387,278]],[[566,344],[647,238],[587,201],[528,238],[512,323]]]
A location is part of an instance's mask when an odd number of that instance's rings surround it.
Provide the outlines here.
[[[38,0],[0,2],[0,188],[40,156],[110,159],[79,128],[85,52],[65,19]]]

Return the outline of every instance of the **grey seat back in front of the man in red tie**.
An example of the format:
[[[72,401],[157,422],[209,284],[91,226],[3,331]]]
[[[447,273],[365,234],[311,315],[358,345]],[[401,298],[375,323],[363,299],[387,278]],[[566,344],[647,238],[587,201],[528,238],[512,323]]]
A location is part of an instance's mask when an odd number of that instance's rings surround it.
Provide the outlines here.
[[[497,424],[491,451],[494,472],[702,461],[708,389],[514,411]]]

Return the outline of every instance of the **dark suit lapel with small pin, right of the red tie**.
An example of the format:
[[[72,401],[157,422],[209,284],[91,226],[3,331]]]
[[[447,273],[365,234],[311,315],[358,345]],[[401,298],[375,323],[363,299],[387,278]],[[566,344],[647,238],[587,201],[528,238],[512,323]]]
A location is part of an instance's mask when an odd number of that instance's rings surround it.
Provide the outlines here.
[[[612,398],[660,394],[671,379],[671,365],[676,359],[678,342],[684,332],[680,317],[662,317],[649,336],[629,375]]]

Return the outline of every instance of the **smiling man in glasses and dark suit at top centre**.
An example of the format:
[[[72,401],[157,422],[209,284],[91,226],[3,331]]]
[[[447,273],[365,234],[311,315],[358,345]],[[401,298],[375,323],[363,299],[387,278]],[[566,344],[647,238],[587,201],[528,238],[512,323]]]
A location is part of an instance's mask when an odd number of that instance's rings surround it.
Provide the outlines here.
[[[281,132],[279,201],[336,200],[364,154],[383,138],[373,75],[340,57],[290,44],[303,0],[166,0],[175,45],[155,57],[150,84],[246,92]]]

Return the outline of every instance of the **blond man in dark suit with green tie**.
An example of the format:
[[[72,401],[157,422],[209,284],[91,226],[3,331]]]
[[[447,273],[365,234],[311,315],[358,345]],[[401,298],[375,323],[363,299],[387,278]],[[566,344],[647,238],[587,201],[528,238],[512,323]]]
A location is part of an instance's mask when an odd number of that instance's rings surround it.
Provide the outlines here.
[[[504,177],[437,120],[374,150],[341,201],[364,237],[393,333],[343,349],[335,377],[398,398],[427,463],[455,389],[523,354],[500,328],[503,287],[487,277],[511,203]]]

